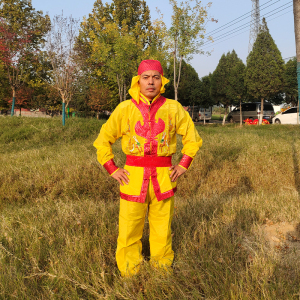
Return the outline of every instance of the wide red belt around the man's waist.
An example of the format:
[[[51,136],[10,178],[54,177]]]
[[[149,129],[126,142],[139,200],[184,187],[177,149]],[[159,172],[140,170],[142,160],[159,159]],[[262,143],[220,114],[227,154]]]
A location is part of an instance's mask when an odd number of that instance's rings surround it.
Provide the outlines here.
[[[157,168],[171,167],[172,156],[126,156],[126,165],[132,167]]]

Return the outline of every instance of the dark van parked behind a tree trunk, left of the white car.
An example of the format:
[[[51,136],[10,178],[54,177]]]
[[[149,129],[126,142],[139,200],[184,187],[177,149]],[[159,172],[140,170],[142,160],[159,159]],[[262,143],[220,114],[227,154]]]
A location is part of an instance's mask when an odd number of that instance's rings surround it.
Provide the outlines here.
[[[246,119],[255,120],[259,119],[260,116],[260,102],[253,103],[243,103],[242,104],[242,119],[243,121]],[[274,117],[274,108],[271,103],[264,103],[264,115],[263,119],[268,120],[272,123],[272,118]],[[230,123],[239,122],[240,121],[240,107],[236,107],[233,111],[231,111],[227,120]]]

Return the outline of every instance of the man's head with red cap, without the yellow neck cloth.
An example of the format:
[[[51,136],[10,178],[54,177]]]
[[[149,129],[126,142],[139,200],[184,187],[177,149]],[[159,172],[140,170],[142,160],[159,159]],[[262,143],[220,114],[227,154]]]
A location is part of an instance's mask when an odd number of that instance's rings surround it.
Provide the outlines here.
[[[163,69],[158,60],[143,60],[138,69],[141,93],[148,99],[154,99],[162,86]]]

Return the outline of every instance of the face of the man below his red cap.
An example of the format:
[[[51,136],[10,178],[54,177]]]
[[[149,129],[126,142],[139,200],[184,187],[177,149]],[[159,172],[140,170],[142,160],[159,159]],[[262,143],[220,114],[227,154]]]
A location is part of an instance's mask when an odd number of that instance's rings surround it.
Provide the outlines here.
[[[141,74],[140,80],[141,93],[148,99],[153,100],[161,88],[161,75],[158,71],[146,71]]]

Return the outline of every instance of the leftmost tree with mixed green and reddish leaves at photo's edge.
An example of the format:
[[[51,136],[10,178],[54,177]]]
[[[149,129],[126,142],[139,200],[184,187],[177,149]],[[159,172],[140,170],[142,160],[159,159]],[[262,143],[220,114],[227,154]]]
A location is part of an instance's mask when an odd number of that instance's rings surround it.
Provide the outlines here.
[[[29,0],[2,0],[0,8],[0,59],[8,74],[14,113],[16,91],[30,75],[28,70],[40,49],[50,20],[35,11]]]

